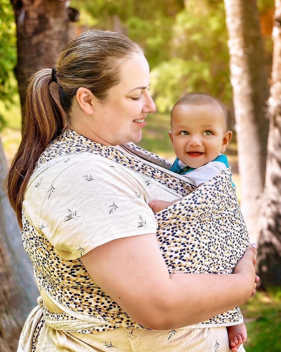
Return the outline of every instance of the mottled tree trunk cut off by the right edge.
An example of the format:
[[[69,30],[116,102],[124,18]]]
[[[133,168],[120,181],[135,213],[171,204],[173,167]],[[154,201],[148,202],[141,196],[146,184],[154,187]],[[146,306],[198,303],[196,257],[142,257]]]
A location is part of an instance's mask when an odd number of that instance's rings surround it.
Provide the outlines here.
[[[257,247],[259,286],[281,286],[281,0],[275,0],[272,87],[261,234]]]

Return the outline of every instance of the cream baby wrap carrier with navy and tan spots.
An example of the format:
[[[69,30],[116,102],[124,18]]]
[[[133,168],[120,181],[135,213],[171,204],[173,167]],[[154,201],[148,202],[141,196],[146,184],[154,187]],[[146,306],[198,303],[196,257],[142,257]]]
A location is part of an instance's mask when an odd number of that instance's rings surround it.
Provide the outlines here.
[[[170,169],[171,163],[165,159],[131,143],[124,145],[124,148],[135,154],[136,158],[114,146],[103,146],[74,131],[64,130],[39,158],[31,182],[42,170],[51,170],[56,158],[67,158],[61,162],[63,164],[68,157],[84,152],[94,153],[141,173],[174,189],[183,197],[155,214],[158,221],[156,237],[169,272],[231,273],[246,250],[249,240],[231,185],[229,169],[196,189],[177,175],[169,174],[166,170]],[[138,156],[147,162],[141,161]],[[160,167],[157,168],[156,165]],[[41,180],[39,178],[35,187],[40,187]],[[52,187],[46,197],[52,196]],[[117,327],[148,329],[133,321],[111,297],[93,284],[92,278],[79,260],[79,256],[84,254],[83,248],[77,249],[77,259],[61,258],[44,235],[46,224],[35,228],[30,217],[25,215],[24,208],[22,222],[24,246],[33,262],[43,298],[39,299],[39,306],[34,308],[26,322],[26,326],[30,324],[33,328],[32,341],[29,338],[33,348],[44,322],[65,332],[92,333]],[[46,271],[46,266],[51,266],[51,272]],[[47,300],[56,309],[50,311]],[[236,307],[188,328],[211,327],[217,324],[236,325],[242,319],[240,310]],[[28,334],[27,328],[24,328],[21,336],[21,340],[27,341],[28,336],[25,334]]]

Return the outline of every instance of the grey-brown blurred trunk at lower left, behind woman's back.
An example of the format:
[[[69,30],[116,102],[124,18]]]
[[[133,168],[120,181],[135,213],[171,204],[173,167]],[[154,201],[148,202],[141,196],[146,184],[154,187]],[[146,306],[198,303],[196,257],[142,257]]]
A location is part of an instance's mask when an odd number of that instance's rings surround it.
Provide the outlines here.
[[[17,350],[27,315],[39,291],[6,190],[7,166],[0,140],[0,352]]]

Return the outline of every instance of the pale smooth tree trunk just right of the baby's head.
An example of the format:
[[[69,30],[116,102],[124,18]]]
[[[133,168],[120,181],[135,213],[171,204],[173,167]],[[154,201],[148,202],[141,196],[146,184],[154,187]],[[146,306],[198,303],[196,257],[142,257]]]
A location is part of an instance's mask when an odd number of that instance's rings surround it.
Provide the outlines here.
[[[224,0],[224,6],[242,187],[241,209],[250,239],[256,241],[266,168],[269,95],[259,12],[256,0]]]

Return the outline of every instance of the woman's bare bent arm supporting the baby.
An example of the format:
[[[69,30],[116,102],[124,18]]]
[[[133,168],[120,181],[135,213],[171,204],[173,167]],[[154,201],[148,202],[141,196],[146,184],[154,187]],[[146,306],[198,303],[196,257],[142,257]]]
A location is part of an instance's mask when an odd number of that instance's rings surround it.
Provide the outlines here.
[[[235,274],[171,274],[155,234],[119,238],[81,257],[94,281],[137,323],[157,330],[207,320],[246,302],[255,281],[254,247]]]

